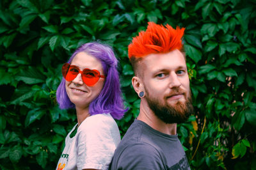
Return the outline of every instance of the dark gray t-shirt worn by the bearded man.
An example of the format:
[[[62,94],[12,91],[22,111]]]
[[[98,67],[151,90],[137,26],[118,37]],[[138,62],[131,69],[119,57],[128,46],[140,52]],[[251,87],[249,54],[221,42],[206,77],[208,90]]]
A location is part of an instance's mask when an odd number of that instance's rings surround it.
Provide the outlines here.
[[[116,148],[109,169],[190,169],[178,135],[134,120]]]

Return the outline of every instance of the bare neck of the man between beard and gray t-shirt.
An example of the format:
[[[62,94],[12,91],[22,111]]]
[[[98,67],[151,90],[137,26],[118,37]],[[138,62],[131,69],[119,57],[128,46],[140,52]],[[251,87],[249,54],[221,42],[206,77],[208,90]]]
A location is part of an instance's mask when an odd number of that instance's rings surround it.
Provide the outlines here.
[[[147,102],[141,100],[140,103],[140,114],[137,120],[147,123],[148,126],[155,130],[162,132],[163,134],[176,135],[177,134],[177,123],[164,123],[156,114],[148,107]]]

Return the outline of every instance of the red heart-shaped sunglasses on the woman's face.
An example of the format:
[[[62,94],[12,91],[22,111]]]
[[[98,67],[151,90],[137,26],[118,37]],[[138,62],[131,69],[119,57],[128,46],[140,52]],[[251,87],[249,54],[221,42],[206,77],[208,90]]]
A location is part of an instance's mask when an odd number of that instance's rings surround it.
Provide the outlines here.
[[[68,63],[65,63],[62,66],[61,72],[66,81],[73,81],[77,77],[77,75],[81,73],[82,80],[87,86],[93,86],[94,84],[96,84],[96,82],[99,81],[100,77],[106,78],[105,75],[100,75],[100,72],[98,70],[90,70],[89,68],[84,68],[84,70],[81,71],[78,66],[70,65]]]

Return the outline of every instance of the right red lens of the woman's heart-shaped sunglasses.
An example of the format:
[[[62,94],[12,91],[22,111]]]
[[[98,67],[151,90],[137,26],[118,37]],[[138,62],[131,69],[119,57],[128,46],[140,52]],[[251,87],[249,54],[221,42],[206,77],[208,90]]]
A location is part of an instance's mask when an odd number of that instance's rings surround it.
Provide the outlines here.
[[[93,86],[99,81],[99,75],[97,70],[84,69],[82,79],[87,86]]]

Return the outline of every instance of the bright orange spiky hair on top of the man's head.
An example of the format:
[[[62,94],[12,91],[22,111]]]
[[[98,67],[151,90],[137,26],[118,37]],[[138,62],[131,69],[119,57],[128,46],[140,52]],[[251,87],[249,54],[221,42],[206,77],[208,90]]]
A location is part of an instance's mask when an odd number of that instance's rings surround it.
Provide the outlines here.
[[[154,22],[148,22],[147,30],[141,31],[138,36],[132,39],[132,43],[128,46],[129,59],[182,49],[184,30],[184,27],[180,29],[177,26],[176,29],[173,29],[168,24],[164,27]]]

